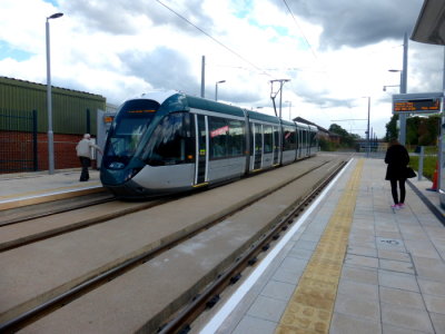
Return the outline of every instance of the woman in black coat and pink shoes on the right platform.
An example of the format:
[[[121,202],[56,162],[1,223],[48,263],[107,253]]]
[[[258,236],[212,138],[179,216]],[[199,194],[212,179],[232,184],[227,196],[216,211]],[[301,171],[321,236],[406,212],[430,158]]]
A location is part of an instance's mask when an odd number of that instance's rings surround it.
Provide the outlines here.
[[[397,139],[392,139],[389,141],[385,163],[388,164],[385,179],[390,181],[390,193],[393,194],[394,199],[394,205],[390,207],[394,209],[403,208],[405,206],[406,166],[409,164],[409,155],[406,148],[400,145]],[[397,183],[400,189],[400,200],[398,200]]]

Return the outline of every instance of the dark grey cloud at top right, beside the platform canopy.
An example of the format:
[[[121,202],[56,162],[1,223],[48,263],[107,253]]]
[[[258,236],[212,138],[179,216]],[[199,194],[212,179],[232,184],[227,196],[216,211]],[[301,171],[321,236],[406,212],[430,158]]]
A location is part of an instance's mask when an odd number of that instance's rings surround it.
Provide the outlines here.
[[[280,0],[273,0],[286,10]],[[411,33],[423,0],[294,0],[289,7],[296,17],[320,24],[320,47],[364,47],[385,39],[402,39]]]

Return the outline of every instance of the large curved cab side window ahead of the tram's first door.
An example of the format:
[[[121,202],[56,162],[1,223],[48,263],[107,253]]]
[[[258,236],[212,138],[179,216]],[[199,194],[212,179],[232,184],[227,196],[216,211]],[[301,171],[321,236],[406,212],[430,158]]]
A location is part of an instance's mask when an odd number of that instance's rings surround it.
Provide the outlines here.
[[[191,163],[194,157],[190,115],[166,116],[156,127],[147,145],[147,163],[151,166]]]

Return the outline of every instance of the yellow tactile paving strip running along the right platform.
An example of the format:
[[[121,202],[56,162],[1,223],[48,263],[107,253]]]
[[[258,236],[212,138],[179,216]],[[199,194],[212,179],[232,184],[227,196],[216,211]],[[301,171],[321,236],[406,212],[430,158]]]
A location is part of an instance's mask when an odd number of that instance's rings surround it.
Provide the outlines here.
[[[360,159],[275,331],[328,333],[364,160]]]

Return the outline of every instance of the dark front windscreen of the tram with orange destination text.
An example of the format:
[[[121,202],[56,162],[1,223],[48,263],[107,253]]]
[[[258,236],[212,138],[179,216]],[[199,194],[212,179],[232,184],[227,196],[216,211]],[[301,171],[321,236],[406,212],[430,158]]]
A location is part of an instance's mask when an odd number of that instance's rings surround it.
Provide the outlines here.
[[[158,108],[159,104],[152,100],[127,101],[119,110],[115,127],[108,136],[106,159],[127,164]]]

